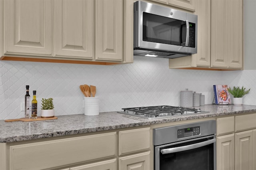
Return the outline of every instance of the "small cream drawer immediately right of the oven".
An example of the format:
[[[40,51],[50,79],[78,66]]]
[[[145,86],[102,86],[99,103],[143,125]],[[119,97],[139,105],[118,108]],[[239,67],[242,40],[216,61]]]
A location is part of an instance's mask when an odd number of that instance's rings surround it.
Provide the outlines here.
[[[217,135],[234,132],[234,116],[217,118],[216,121]]]

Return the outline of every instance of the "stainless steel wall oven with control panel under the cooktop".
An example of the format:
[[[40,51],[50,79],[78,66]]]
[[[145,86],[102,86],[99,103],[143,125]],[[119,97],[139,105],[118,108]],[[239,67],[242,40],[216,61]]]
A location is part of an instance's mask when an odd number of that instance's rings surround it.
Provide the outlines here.
[[[216,121],[153,129],[154,170],[216,170]]]

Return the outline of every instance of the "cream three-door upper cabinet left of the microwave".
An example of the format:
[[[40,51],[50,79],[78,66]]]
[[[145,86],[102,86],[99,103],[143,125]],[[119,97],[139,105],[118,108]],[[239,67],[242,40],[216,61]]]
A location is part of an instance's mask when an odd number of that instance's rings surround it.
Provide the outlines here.
[[[3,13],[0,56],[133,62],[132,0],[4,0]]]

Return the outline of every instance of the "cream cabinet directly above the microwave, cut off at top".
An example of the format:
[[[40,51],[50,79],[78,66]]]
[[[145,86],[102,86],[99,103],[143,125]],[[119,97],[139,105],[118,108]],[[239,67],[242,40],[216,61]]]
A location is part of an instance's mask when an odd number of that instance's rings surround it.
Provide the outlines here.
[[[169,6],[182,8],[184,10],[189,10],[193,12],[195,11],[196,0],[151,0],[151,1],[168,4]]]

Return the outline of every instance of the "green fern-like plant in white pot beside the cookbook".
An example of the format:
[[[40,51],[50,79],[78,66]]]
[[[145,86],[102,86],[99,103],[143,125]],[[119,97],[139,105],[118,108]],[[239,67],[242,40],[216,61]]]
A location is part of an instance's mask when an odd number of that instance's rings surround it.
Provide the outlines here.
[[[242,105],[243,103],[243,96],[248,94],[250,91],[249,90],[245,90],[244,86],[242,86],[242,88],[240,89],[240,87],[233,87],[233,89],[228,88],[228,92],[234,96],[233,98],[233,104],[234,105]]]

